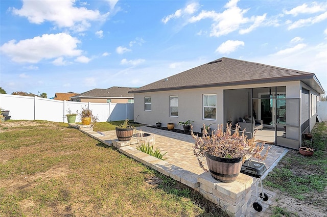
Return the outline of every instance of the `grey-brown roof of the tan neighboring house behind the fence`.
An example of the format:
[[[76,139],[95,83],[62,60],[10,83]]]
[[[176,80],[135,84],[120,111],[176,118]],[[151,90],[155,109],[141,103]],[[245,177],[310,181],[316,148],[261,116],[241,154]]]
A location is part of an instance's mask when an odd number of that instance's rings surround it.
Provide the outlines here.
[[[111,87],[108,89],[93,89],[78,94],[71,98],[134,98],[134,94],[128,93],[135,88]]]

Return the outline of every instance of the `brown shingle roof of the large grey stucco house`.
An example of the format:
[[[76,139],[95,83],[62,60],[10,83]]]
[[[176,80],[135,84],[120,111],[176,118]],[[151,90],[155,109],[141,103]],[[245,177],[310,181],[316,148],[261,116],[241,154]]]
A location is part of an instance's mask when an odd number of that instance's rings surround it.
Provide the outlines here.
[[[130,93],[248,85],[291,80],[301,80],[318,93],[324,94],[321,84],[313,73],[225,57],[134,89]]]

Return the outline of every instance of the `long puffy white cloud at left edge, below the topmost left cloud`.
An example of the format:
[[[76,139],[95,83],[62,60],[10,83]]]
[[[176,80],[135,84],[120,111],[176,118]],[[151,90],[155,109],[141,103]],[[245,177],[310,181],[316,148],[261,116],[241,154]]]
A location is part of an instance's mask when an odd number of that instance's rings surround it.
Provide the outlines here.
[[[43,59],[79,56],[82,50],[77,49],[78,43],[81,42],[77,38],[66,33],[44,34],[19,42],[8,41],[0,50],[14,62],[37,63]]]

